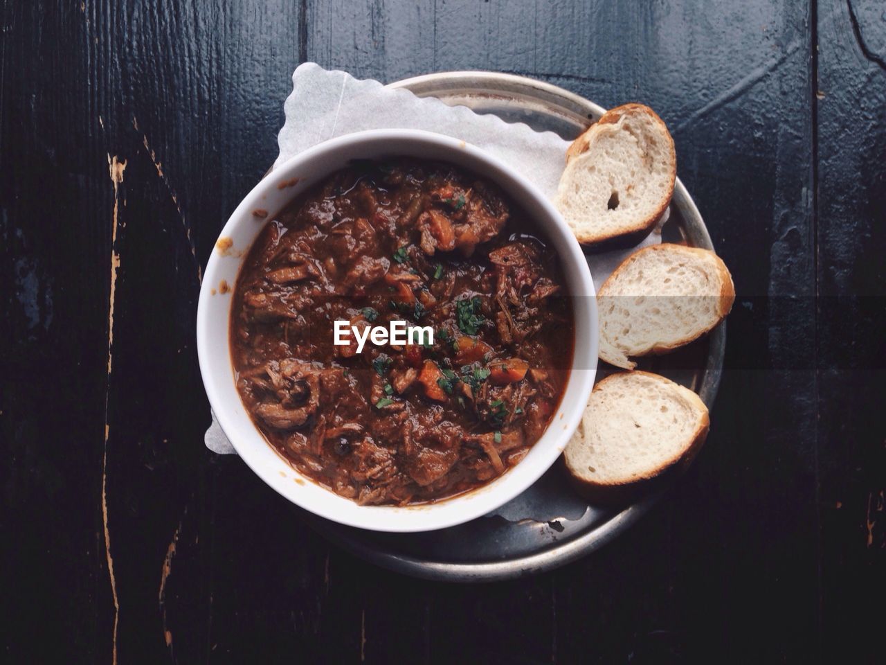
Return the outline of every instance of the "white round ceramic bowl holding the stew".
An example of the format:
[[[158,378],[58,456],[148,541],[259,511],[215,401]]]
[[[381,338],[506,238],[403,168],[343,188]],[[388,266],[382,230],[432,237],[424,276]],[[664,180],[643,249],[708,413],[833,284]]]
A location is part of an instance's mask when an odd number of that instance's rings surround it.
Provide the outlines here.
[[[357,505],[310,481],[281,458],[246,412],[234,383],[229,355],[231,293],[243,257],[263,227],[253,215],[271,215],[307,188],[354,159],[408,156],[443,160],[498,184],[544,231],[556,248],[573,296],[575,351],[572,371],[548,431],[507,473],[458,497],[416,506]],[[298,178],[297,184],[291,184]],[[259,220],[260,221],[260,220]],[[512,168],[463,141],[431,132],[400,129],[362,131],[334,138],[275,168],[255,186],[221,231],[200,289],[197,311],[200,372],[216,419],[245,463],[261,480],[294,504],[328,520],[378,531],[430,531],[485,515],[517,497],[556,461],[578,426],[594,385],[597,364],[597,310],[594,284],[578,242],[556,209],[536,187]]]

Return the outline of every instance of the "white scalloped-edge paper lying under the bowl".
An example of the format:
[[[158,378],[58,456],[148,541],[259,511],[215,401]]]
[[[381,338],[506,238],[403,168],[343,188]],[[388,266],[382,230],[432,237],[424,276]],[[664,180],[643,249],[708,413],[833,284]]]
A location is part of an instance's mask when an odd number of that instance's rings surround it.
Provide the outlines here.
[[[275,166],[327,139],[363,129],[426,129],[494,154],[550,199],[556,193],[569,146],[553,132],[537,132],[523,123],[480,115],[465,106],[447,106],[437,98],[417,98],[408,90],[387,89],[380,82],[361,81],[310,62],[292,74],[292,93],[286,98],[284,112]],[[653,232],[633,249],[589,257],[595,288],[600,288],[628,254],[658,242],[661,236]],[[220,454],[236,452],[214,416],[206,431],[206,447]]]

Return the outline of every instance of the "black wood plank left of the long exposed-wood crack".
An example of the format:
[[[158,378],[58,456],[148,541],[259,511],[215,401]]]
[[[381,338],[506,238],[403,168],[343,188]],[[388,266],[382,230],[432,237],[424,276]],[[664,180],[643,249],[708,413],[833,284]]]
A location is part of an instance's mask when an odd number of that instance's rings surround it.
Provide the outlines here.
[[[107,660],[99,501],[113,189],[82,85],[80,12],[4,4],[0,17],[0,642],[10,661]]]

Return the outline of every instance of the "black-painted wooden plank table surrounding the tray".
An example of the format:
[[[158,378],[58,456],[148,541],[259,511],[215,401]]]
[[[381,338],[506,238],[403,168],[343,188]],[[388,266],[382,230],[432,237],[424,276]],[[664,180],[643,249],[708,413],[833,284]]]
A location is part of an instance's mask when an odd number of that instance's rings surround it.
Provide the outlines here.
[[[2,659],[882,662],[886,7],[0,4]],[[301,61],[526,74],[672,129],[738,298],[708,444],[511,583],[354,559],[209,422],[194,319]]]

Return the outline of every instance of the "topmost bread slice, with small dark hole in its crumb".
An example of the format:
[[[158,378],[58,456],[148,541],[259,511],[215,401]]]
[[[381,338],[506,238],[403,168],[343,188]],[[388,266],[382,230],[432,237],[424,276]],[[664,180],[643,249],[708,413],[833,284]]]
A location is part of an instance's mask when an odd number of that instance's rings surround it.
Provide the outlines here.
[[[554,202],[582,245],[630,247],[655,228],[676,177],[664,121],[649,106],[626,104],[572,142]]]

